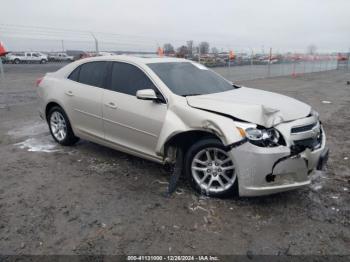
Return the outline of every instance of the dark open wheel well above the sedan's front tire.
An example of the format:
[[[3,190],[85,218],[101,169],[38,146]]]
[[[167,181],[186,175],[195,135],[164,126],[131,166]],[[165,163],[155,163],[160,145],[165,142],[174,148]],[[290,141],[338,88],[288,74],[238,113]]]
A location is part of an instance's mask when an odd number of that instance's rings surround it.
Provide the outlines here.
[[[190,146],[192,146],[197,141],[205,138],[215,138],[221,141],[221,139],[217,135],[207,131],[194,130],[194,131],[182,132],[171,137],[165,143],[165,146],[164,146],[165,156],[169,154],[168,151],[171,151],[169,150],[170,148],[177,148],[177,147],[180,147],[183,150],[183,155],[185,155],[187,150],[190,148]]]

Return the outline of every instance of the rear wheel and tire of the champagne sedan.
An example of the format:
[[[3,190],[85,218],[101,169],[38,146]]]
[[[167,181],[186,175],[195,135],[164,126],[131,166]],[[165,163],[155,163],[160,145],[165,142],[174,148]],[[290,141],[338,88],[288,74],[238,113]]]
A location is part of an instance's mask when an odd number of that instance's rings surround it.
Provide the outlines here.
[[[50,109],[47,115],[50,133],[53,139],[63,145],[72,146],[79,141],[74,135],[69,119],[64,110],[59,106]]]

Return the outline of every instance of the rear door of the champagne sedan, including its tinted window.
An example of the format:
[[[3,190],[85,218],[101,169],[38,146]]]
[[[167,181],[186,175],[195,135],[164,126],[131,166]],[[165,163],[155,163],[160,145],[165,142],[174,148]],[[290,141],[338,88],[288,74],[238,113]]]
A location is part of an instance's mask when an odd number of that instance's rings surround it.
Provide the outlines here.
[[[91,138],[103,138],[102,94],[108,63],[88,62],[76,68],[65,85],[65,104],[74,131]]]

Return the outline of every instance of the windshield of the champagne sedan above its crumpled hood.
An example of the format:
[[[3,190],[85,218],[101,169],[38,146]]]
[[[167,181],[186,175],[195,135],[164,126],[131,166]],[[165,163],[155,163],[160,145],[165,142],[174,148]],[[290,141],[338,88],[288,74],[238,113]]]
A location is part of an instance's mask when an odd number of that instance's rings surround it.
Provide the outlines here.
[[[234,89],[224,78],[200,64],[169,62],[147,65],[173,93],[180,96],[212,94]]]

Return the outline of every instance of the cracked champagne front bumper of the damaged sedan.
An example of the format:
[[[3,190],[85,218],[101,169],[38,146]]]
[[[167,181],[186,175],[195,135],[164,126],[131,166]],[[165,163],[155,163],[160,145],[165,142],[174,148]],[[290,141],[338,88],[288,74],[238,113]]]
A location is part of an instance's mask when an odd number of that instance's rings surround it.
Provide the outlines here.
[[[240,196],[261,196],[311,183],[311,175],[328,159],[326,136],[317,149],[291,154],[290,146],[258,147],[247,142],[229,151],[236,166]]]

